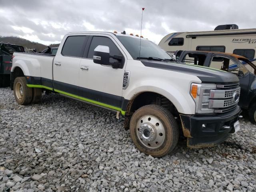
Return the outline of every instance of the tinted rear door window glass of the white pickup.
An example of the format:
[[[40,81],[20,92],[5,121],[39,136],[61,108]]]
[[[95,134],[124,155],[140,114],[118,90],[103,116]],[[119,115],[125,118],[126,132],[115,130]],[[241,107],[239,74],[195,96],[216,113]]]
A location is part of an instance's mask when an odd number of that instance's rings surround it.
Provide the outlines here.
[[[62,48],[62,55],[71,57],[82,57],[83,45],[86,36],[69,36]]]

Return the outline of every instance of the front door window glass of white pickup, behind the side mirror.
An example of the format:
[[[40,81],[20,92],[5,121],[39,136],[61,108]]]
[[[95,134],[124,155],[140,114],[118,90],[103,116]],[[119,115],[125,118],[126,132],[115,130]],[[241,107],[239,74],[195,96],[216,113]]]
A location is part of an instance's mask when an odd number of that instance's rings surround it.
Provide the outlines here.
[[[92,38],[92,42],[90,44],[89,52],[87,58],[92,59],[94,54],[94,49],[98,45],[104,45],[109,47],[110,55],[120,55],[122,56],[122,53],[117,48],[117,46],[114,44],[114,42],[108,38],[108,37],[102,37],[102,36],[94,36]],[[116,62],[117,60],[110,58],[110,62]]]

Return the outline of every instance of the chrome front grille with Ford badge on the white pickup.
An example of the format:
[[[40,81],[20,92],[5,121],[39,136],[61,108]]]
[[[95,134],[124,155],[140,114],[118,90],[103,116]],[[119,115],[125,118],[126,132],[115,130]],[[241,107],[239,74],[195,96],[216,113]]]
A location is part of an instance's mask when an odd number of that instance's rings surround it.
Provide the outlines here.
[[[234,86],[231,88],[230,86]],[[210,91],[209,108],[214,108],[216,113],[224,113],[233,110],[239,102],[239,84],[217,85],[216,90]]]

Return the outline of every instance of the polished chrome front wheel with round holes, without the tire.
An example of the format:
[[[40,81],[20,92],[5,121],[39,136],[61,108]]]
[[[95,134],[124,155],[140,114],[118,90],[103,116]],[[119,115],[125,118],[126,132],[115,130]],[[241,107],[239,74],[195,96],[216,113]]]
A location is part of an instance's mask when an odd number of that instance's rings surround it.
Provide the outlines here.
[[[164,143],[164,126],[154,116],[141,117],[136,125],[136,133],[140,142],[148,148],[158,148]]]

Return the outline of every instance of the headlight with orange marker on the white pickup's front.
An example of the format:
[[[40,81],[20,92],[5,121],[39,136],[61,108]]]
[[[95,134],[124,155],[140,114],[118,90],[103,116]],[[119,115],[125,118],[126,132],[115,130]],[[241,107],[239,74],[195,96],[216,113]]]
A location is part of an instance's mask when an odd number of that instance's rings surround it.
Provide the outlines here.
[[[190,95],[196,103],[197,114],[214,112],[214,109],[209,108],[210,91],[212,89],[216,89],[215,84],[191,84]]]

